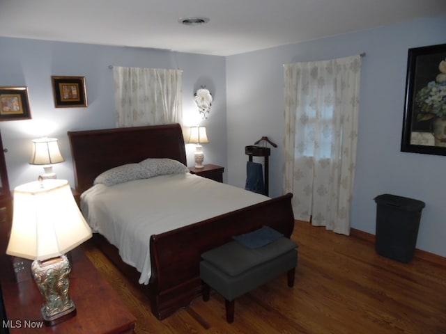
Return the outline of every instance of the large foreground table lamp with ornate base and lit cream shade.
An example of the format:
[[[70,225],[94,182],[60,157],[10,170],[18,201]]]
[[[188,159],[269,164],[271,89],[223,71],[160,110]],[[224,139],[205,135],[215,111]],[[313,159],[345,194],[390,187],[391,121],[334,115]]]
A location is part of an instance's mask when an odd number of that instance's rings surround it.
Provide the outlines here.
[[[76,315],[68,295],[69,250],[91,238],[67,180],[29,182],[14,189],[13,225],[6,254],[34,260],[31,273],[44,302],[45,325]]]

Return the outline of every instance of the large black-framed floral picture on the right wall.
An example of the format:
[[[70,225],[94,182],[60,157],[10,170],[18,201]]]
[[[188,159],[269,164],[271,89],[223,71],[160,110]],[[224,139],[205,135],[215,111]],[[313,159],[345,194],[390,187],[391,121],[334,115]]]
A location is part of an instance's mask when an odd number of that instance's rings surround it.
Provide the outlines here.
[[[401,152],[446,155],[446,44],[408,50]]]

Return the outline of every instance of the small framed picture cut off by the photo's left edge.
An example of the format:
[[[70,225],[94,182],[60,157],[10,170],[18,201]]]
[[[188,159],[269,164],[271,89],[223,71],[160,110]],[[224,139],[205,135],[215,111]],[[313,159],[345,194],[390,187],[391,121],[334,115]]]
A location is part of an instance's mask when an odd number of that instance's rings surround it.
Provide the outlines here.
[[[0,120],[31,118],[28,87],[0,87]]]

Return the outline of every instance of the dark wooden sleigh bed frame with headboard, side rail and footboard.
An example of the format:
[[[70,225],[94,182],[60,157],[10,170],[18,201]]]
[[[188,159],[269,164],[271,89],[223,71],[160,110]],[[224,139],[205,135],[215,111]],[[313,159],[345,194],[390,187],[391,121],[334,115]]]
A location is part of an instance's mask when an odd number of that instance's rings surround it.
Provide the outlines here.
[[[76,191],[93,185],[100,173],[146,158],[176,159],[187,166],[181,127],[154,125],[68,132],[75,170]],[[189,305],[202,293],[199,278],[201,253],[220,246],[236,234],[268,225],[291,237],[294,228],[292,194],[199,221],[150,237],[151,279],[138,283],[140,273],[125,264],[118,250],[99,234],[95,243],[132,282],[144,290],[157,319],[164,319]]]

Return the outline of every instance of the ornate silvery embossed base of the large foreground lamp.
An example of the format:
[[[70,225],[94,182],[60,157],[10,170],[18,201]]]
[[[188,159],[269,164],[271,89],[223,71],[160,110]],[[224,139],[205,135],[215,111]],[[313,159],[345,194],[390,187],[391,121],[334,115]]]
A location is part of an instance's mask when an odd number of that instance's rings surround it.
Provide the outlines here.
[[[66,255],[31,264],[33,278],[44,298],[40,311],[46,326],[54,326],[76,315],[75,303],[68,296],[70,271]]]

